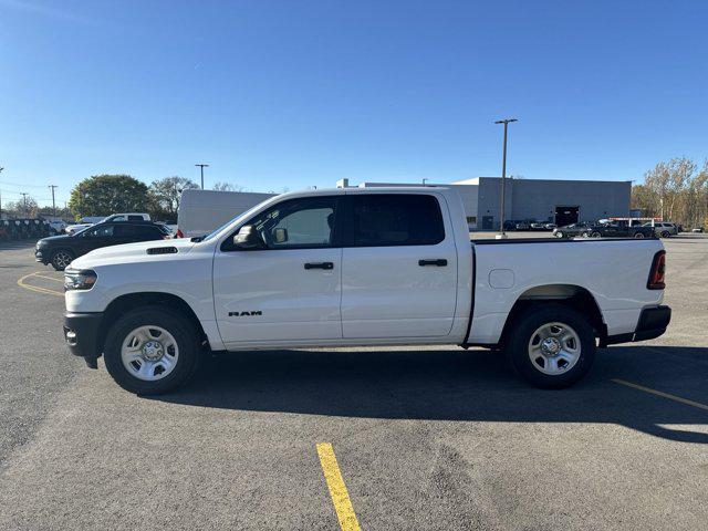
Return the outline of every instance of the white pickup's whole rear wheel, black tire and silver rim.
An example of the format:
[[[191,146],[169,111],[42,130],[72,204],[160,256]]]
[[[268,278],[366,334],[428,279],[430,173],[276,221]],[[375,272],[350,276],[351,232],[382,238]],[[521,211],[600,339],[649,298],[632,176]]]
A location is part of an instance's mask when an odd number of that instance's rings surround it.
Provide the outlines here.
[[[595,358],[592,326],[562,304],[530,308],[514,322],[507,354],[516,371],[542,388],[562,388],[581,379]]]

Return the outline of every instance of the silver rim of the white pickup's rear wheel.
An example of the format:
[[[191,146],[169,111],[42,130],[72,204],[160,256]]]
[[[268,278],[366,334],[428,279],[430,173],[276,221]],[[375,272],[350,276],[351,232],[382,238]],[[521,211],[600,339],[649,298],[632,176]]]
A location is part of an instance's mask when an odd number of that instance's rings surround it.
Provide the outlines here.
[[[537,371],[551,376],[568,373],[581,355],[577,332],[565,323],[545,323],[529,340],[529,360]]]

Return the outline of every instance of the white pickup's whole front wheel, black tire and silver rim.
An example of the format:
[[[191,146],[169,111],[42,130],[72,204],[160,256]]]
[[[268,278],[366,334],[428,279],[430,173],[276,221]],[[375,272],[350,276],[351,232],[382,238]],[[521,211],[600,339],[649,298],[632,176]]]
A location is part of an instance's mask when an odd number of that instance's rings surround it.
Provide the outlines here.
[[[186,384],[197,369],[197,337],[194,323],[178,312],[164,306],[132,310],[108,331],[106,368],[131,393],[168,393]]]

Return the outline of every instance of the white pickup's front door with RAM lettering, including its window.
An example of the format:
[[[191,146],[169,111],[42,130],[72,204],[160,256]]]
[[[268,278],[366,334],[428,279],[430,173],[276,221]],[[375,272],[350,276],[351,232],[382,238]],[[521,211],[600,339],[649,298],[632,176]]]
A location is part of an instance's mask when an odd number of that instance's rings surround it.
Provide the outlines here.
[[[262,248],[232,236],[216,250],[214,303],[227,346],[342,337],[337,196],[290,199],[256,215]]]

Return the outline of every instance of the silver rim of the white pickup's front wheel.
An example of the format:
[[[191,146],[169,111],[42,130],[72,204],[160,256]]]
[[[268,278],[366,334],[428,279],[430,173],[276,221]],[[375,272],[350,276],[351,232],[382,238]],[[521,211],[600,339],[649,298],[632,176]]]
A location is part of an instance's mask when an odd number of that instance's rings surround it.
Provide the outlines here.
[[[177,366],[177,340],[162,326],[138,326],[125,336],[121,360],[126,371],[138,379],[156,382]]]

